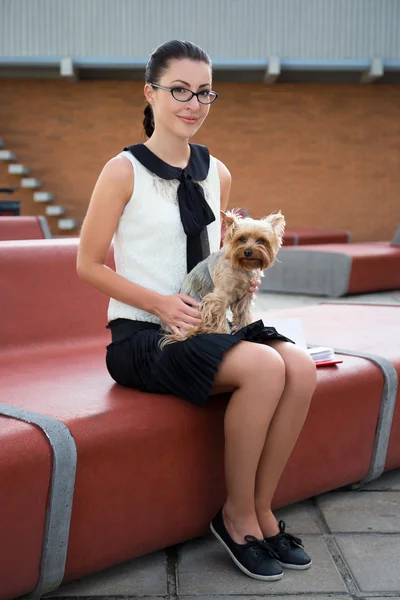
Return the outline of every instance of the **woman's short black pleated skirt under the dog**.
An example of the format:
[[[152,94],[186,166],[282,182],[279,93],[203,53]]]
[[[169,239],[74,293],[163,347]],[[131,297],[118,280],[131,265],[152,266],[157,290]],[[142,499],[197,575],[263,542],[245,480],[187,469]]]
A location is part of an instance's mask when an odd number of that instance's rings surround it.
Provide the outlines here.
[[[115,319],[106,325],[111,344],[106,365],[111,377],[125,387],[156,394],[173,394],[203,406],[210,395],[224,353],[242,340],[262,344],[291,342],[262,320],[234,334],[203,333],[183,342],[159,347],[162,336],[156,323]]]

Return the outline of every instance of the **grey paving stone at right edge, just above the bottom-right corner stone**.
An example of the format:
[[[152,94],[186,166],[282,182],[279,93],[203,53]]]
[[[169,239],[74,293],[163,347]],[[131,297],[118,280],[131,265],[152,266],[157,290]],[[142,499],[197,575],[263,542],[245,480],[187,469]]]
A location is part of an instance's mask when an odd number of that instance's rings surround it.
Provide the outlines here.
[[[332,532],[400,532],[397,492],[330,492],[317,503]]]

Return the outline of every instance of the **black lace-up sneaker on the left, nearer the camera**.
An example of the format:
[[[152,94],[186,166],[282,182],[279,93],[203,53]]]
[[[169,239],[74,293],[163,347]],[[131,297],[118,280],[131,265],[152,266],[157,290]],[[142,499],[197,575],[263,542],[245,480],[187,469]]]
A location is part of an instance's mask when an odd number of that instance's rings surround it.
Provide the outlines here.
[[[210,523],[210,529],[228,550],[233,562],[243,573],[254,579],[275,581],[283,577],[283,571],[274,558],[272,547],[264,540],[253,535],[246,535],[246,544],[233,541],[225,528],[222,508]]]

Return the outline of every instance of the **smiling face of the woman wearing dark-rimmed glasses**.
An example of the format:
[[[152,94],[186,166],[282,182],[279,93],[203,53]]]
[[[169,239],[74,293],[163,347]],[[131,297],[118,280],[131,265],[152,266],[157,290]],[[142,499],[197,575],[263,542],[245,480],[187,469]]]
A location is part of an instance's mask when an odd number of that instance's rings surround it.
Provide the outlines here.
[[[190,59],[171,60],[159,81],[168,88],[186,88],[192,92],[211,90],[211,68],[205,62]],[[170,92],[146,83],[145,96],[151,104],[155,127],[179,138],[190,138],[201,127],[210,105],[201,104],[196,96],[188,102],[175,100]]]

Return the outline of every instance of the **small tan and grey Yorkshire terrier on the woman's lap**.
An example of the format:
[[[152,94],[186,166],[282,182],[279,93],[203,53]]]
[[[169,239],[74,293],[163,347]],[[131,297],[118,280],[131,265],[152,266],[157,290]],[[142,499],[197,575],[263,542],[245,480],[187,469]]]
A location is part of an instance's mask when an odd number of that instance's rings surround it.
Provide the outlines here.
[[[282,246],[285,217],[281,211],[260,220],[222,212],[226,227],[222,248],[188,273],[180,293],[200,302],[201,325],[181,334],[165,326],[161,347],[200,333],[234,333],[252,322],[250,282],[263,277]],[[232,311],[232,326],[226,311]]]

